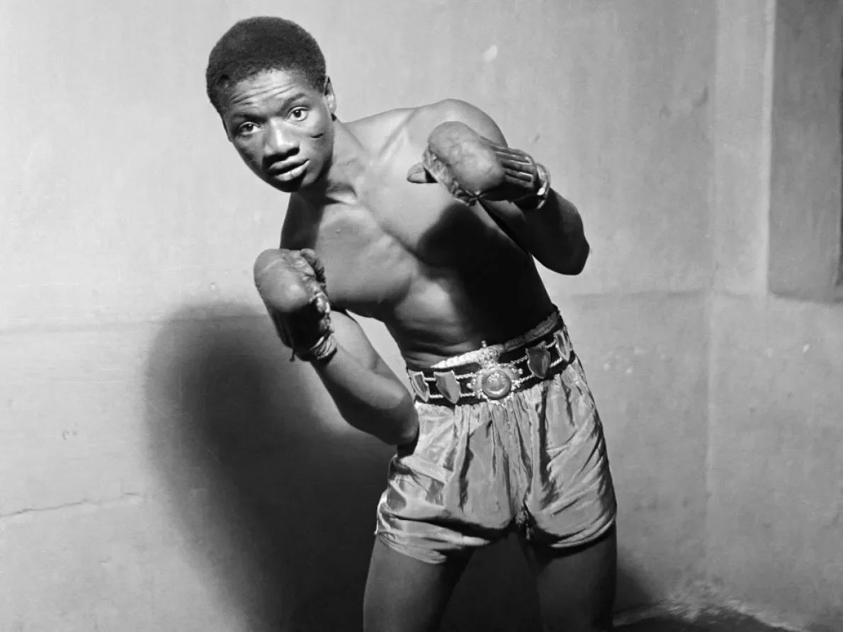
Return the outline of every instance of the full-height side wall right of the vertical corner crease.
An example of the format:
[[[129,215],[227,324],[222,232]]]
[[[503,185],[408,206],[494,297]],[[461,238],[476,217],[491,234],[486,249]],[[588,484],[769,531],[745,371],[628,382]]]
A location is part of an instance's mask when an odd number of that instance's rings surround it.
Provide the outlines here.
[[[829,631],[843,629],[843,303],[768,289],[833,295],[841,24],[840,2],[719,7],[708,378],[707,580]]]

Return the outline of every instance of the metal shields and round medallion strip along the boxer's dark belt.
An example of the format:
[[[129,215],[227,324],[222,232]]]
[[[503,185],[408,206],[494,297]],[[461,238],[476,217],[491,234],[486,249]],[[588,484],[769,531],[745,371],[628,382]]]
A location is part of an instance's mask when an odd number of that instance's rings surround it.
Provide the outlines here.
[[[558,352],[553,362],[550,356],[552,348]],[[457,404],[460,399],[473,396],[481,401],[503,403],[525,382],[545,379],[551,369],[568,362],[571,354],[572,347],[565,329],[558,329],[552,335],[552,342],[542,340],[533,346],[525,346],[524,355],[512,362],[500,362],[500,349],[484,343],[476,352],[476,362],[472,362],[480,365],[475,372],[457,374],[454,370],[430,369],[427,372],[432,372],[432,377],[421,371],[408,369],[407,372],[416,396],[424,402],[447,399],[451,404]],[[527,364],[526,369],[518,367],[522,363]],[[467,380],[468,393],[463,391],[460,380]],[[431,392],[429,382],[436,386],[438,393]]]

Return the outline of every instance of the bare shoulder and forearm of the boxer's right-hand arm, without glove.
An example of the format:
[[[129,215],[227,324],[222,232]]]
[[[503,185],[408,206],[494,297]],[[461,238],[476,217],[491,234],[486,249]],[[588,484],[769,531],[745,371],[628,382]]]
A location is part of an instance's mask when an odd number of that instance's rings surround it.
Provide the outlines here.
[[[448,99],[438,104],[437,124],[459,121],[491,142],[507,147],[506,139],[491,116],[474,105]],[[505,222],[521,246],[549,270],[564,275],[577,275],[588,260],[589,246],[583,230],[583,220],[576,206],[555,190],[535,211],[522,211],[511,201],[491,201],[481,198],[488,212]]]

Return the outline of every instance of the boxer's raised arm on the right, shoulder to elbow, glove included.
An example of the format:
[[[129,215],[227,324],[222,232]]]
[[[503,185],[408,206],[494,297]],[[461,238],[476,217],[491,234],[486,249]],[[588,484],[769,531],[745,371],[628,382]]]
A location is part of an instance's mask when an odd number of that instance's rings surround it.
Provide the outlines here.
[[[455,99],[438,107],[439,121],[464,124],[475,134],[459,125],[438,126],[425,153],[426,173],[416,165],[408,179],[432,181],[432,176],[464,201],[479,201],[549,270],[583,271],[589,253],[583,220],[576,206],[550,187],[546,170],[528,153],[508,147],[495,121],[479,108]]]

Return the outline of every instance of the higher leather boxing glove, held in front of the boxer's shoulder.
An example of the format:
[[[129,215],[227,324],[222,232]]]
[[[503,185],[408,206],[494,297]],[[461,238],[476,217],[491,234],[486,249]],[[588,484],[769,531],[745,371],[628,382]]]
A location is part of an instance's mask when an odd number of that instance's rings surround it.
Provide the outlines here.
[[[547,169],[529,153],[491,142],[459,121],[433,129],[421,163],[411,167],[407,179],[438,182],[466,204],[506,200],[525,211],[542,206],[550,191]]]

